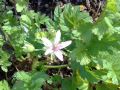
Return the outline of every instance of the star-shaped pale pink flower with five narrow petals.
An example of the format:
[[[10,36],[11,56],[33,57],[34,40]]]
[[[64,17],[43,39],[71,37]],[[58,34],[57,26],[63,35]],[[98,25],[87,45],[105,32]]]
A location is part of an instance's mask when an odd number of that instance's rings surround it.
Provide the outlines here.
[[[46,47],[45,55],[54,54],[59,60],[63,61],[63,53],[61,49],[69,46],[72,43],[72,41],[69,40],[60,43],[60,38],[61,38],[61,32],[59,30],[56,33],[56,37],[53,43],[47,38],[42,38],[42,41]]]

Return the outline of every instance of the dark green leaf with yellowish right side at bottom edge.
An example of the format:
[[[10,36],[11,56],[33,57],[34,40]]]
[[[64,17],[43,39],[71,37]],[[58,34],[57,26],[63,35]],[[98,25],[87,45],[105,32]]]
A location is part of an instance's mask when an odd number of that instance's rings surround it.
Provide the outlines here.
[[[74,70],[73,76],[62,80],[62,90],[88,90],[88,81],[81,78],[79,72]]]

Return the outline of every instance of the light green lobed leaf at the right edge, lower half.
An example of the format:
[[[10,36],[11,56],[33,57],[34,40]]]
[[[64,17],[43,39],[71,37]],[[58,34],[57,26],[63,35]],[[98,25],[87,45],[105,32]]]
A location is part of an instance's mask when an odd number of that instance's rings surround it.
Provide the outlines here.
[[[106,75],[106,82],[119,84],[120,83],[120,52],[114,51],[113,53],[100,52],[97,60],[100,60],[100,64],[104,69],[108,70]]]

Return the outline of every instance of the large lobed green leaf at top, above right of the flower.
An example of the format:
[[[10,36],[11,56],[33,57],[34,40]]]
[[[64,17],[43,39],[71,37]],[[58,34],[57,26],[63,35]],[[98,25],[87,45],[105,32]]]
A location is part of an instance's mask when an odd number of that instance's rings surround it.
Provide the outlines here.
[[[80,12],[80,8],[71,4],[65,5],[65,9],[60,17],[61,27],[67,26],[69,29],[79,29],[81,24],[92,23],[92,18],[87,12]]]

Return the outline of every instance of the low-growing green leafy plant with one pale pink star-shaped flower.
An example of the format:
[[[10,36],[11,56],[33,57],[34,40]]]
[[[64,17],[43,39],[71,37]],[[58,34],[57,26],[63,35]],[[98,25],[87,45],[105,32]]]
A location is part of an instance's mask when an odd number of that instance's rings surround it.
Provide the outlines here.
[[[119,89],[120,0],[107,0],[95,22],[71,4],[57,6],[50,19],[30,10],[28,0],[12,0],[17,14],[3,1],[0,67],[6,80],[0,90]]]

